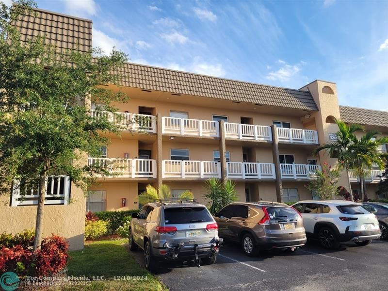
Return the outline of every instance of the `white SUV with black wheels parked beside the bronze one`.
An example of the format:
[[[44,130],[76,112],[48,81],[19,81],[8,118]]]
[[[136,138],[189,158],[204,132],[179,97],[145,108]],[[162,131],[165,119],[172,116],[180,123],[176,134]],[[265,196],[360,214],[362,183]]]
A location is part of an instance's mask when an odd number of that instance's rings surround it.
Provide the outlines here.
[[[338,248],[341,242],[367,245],[380,237],[376,216],[360,203],[305,200],[293,207],[302,214],[307,236],[318,238],[324,248]]]

